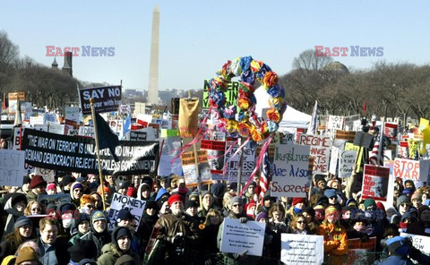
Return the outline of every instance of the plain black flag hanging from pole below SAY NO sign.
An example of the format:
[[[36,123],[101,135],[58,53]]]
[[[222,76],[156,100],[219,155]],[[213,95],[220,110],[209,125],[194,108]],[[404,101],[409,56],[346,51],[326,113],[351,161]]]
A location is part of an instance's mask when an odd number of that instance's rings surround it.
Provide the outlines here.
[[[104,150],[108,148],[112,157],[114,157],[115,162],[119,161],[116,157],[115,149],[119,145],[118,136],[112,132],[109,124],[106,123],[105,119],[99,115],[96,111],[96,126],[97,126],[97,137],[99,138],[99,150]]]

